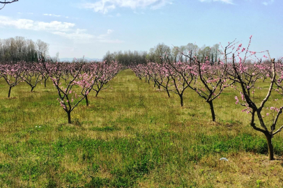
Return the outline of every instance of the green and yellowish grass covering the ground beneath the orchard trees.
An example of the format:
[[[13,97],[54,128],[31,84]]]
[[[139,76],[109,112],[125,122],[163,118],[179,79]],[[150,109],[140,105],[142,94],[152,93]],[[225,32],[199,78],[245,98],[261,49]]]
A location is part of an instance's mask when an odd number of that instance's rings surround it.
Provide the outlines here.
[[[283,187],[282,133],[268,161],[234,90],[215,100],[213,123],[190,90],[180,107],[130,70],[109,84],[69,125],[51,82],[33,93],[21,83],[7,98],[0,79],[0,187]]]

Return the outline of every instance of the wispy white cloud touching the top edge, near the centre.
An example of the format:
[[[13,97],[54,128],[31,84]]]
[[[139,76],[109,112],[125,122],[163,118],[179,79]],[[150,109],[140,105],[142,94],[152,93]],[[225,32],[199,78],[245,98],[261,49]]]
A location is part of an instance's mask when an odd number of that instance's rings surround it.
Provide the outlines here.
[[[125,8],[146,8],[150,7],[155,10],[171,4],[172,0],[98,0],[95,3],[83,3],[82,8],[93,9],[95,12],[106,14],[109,10],[116,7]]]

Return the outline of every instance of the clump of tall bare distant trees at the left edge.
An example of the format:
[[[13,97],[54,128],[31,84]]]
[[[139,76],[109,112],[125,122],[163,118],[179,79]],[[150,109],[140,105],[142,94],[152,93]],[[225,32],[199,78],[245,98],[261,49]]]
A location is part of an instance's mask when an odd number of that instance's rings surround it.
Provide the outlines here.
[[[0,39],[0,61],[38,62],[39,58],[48,55],[49,45],[42,40],[34,42],[31,39],[16,36],[15,38]]]

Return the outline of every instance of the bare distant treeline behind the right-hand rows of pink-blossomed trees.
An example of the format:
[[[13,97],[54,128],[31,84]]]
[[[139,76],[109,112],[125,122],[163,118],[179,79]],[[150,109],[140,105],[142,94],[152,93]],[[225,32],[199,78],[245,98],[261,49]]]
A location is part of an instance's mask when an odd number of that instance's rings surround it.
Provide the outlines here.
[[[190,62],[190,58],[183,56],[183,54],[188,55],[189,57],[197,56],[201,62],[203,62],[206,57],[211,63],[218,61],[220,57],[220,45],[215,44],[213,47],[204,45],[203,47],[198,47],[192,43],[188,45],[183,45],[180,47],[169,47],[164,43],[160,43],[155,47],[149,49],[148,52],[137,52],[137,51],[125,51],[125,52],[113,52],[109,51],[103,57],[103,61],[118,61],[123,65],[132,65],[132,64],[145,64],[147,62],[161,63],[162,58],[169,58],[170,61],[185,61]]]

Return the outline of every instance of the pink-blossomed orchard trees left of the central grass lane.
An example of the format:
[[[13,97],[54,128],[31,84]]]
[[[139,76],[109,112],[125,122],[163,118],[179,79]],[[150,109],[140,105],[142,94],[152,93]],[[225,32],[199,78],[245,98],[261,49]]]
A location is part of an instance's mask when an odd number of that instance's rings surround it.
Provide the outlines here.
[[[68,123],[71,123],[70,113],[82,100],[86,100],[89,106],[88,95],[91,91],[95,96],[105,87],[121,70],[122,65],[117,62],[100,63],[8,63],[0,64],[0,78],[5,79],[9,86],[8,97],[11,89],[21,81],[31,86],[31,92],[40,81],[51,79],[58,91],[59,104],[68,115]]]

